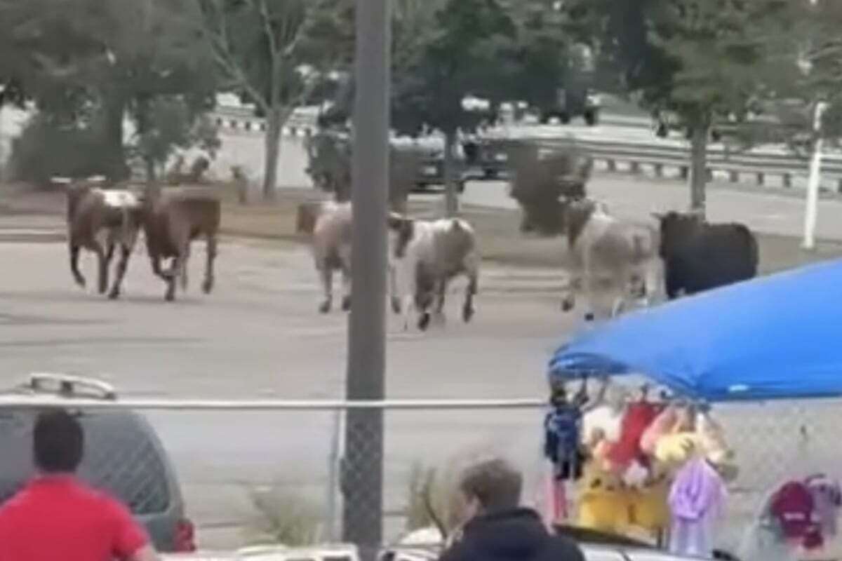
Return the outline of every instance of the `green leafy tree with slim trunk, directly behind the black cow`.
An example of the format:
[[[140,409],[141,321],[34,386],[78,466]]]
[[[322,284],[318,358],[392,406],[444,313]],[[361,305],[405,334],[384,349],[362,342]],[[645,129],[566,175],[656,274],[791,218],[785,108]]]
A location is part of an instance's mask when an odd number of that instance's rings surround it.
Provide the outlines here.
[[[789,0],[571,0],[581,36],[616,64],[628,91],[690,137],[690,207],[704,214],[711,125],[757,98],[770,22]]]

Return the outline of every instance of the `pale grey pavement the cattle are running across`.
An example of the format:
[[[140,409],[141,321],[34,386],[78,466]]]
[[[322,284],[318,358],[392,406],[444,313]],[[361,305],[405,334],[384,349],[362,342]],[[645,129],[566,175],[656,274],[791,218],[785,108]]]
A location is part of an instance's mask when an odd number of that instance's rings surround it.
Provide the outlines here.
[[[109,380],[125,396],[326,399],[344,395],[346,319],[316,312],[317,283],[305,251],[226,241],[215,294],[195,288],[175,304],[136,256],[125,299],[74,288],[59,243],[0,244],[0,383],[31,371]],[[93,262],[85,263],[88,275]],[[544,367],[568,331],[557,312],[554,273],[492,269],[483,275],[474,323],[451,301],[449,325],[427,334],[389,327],[392,398],[537,397]],[[489,352],[493,349],[493,352]],[[540,416],[510,413],[387,415],[388,504],[403,500],[414,462],[444,463],[462,447],[498,447],[534,471]],[[191,516],[205,544],[231,545],[249,487],[279,481],[322,500],[333,415],[328,413],[152,413],[173,454]]]

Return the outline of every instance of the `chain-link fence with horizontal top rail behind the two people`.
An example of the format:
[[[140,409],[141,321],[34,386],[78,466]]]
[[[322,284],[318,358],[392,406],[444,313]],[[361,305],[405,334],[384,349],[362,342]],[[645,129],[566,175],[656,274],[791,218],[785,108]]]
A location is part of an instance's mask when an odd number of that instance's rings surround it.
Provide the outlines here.
[[[201,403],[80,405],[149,410],[205,547],[377,535],[392,543],[413,527],[430,525],[418,497],[430,479],[436,483],[429,486],[429,503],[446,521],[456,474],[488,456],[522,469],[527,505],[543,509],[546,503],[546,410],[540,400],[383,402],[350,409],[343,402]],[[820,400],[712,410],[739,467],[717,532],[722,548],[738,548],[759,506],[784,480],[816,472],[842,476],[840,412],[839,402]],[[379,470],[382,484],[372,486]],[[219,537],[220,527],[234,529]]]

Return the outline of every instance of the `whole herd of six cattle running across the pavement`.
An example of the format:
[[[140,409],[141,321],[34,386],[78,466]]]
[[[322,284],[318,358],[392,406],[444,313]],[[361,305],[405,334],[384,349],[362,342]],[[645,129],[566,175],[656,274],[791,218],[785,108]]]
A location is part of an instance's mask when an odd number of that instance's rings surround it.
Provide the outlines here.
[[[187,284],[190,243],[206,241],[205,279],[214,284],[220,198],[205,187],[104,188],[103,178],[73,181],[56,177],[67,188],[67,227],[73,278],[85,285],[79,271],[82,248],[99,263],[99,293],[120,296],[120,285],[141,230],[146,239],[152,272],[166,283],[165,298],[175,298],[176,285]],[[569,191],[569,189],[568,189]],[[570,282],[562,309],[577,307],[585,320],[605,319],[635,305],[650,305],[665,294],[675,299],[709,288],[753,278],[758,271],[758,246],[744,225],[711,225],[695,214],[657,215],[656,224],[620,219],[603,203],[587,197],[584,183],[563,198],[559,209],[566,238]],[[529,222],[529,207],[525,224]],[[392,212],[384,217],[389,232],[389,292],[392,310],[402,313],[408,327],[413,313],[425,330],[433,315],[444,318],[449,283],[466,278],[462,318],[474,314],[480,254],[477,233],[464,219],[418,220]],[[312,240],[312,256],[322,283],[319,310],[333,306],[333,273],[343,279],[342,309],[351,298],[351,225],[349,202],[324,201],[299,209],[297,230]],[[522,230],[527,230],[521,226]],[[109,269],[120,248],[114,283]],[[559,246],[562,251],[562,246]],[[172,262],[166,269],[163,260]]]

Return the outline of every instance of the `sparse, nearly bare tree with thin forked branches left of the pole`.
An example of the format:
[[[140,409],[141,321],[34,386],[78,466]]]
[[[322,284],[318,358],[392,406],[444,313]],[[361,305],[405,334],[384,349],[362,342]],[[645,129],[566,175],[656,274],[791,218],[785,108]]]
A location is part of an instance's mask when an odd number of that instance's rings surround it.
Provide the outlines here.
[[[322,3],[309,0],[197,0],[202,31],[223,77],[266,119],[264,196],[274,196],[280,135],[321,82],[333,51],[319,45]],[[324,48],[322,48],[324,47]]]

